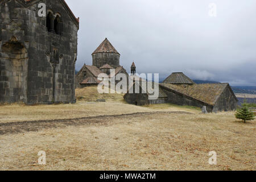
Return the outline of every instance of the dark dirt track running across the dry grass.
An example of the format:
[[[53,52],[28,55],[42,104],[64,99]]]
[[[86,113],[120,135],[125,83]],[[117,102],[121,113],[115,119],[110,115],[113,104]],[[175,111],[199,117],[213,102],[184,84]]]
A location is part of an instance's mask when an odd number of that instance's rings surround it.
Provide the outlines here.
[[[73,119],[53,119],[53,120],[41,120],[41,121],[23,121],[23,122],[9,122],[0,123],[0,135],[5,134],[16,134],[25,133],[30,131],[39,131],[42,129],[65,127],[65,126],[81,126],[81,125],[92,125],[92,124],[106,124],[111,122],[113,119],[125,119],[139,118],[154,114],[193,114],[185,111],[169,111],[169,112],[150,112],[150,113],[131,113],[121,115],[100,115],[96,117],[84,117],[84,118],[73,118]]]

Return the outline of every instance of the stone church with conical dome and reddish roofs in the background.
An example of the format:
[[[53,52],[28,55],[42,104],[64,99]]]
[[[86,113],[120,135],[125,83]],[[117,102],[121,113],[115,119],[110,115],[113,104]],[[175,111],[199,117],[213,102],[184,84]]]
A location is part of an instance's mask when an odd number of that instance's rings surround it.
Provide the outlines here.
[[[106,38],[92,53],[93,65],[86,65],[76,75],[76,87],[96,86],[100,83],[98,75],[105,73],[108,77],[123,73],[129,77],[126,69],[120,65],[120,54]],[[115,69],[114,73],[111,71]]]

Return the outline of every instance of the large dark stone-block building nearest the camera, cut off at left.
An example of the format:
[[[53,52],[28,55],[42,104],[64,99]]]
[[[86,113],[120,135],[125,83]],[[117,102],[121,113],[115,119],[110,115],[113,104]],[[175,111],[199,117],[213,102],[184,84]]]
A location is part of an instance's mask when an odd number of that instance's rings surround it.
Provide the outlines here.
[[[0,16],[0,104],[75,102],[79,18],[67,3],[0,0]]]

